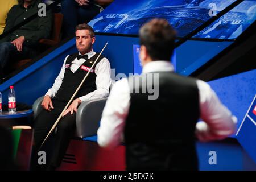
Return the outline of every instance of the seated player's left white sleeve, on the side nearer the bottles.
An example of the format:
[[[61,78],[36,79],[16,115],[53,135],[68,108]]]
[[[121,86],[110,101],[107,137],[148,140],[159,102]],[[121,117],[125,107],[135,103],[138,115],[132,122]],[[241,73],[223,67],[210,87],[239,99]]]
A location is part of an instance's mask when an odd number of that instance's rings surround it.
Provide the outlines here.
[[[69,55],[68,55],[68,56],[69,56]],[[57,91],[60,89],[60,86],[61,86],[61,84],[62,84],[62,80],[63,80],[63,78],[64,78],[65,63],[66,63],[66,60],[67,60],[68,56],[65,58],[64,63],[63,63],[63,66],[62,66],[61,69],[60,69],[60,73],[59,73],[59,75],[57,76],[57,78],[55,79],[52,88],[50,88],[50,89],[47,91],[47,93],[45,94],[45,96],[48,95],[48,96],[50,96],[51,98],[53,98],[53,97],[55,97]]]

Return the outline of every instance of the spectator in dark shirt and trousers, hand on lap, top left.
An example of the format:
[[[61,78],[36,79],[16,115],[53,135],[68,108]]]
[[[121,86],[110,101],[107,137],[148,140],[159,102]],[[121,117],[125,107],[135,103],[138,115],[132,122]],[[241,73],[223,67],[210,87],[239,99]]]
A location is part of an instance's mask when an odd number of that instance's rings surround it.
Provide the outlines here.
[[[14,5],[7,14],[3,33],[37,14],[40,9],[39,3],[43,1],[22,0],[18,5]],[[10,60],[32,59],[36,55],[39,39],[48,38],[51,35],[51,29],[52,12],[46,11],[46,16],[37,16],[0,39],[0,76]]]

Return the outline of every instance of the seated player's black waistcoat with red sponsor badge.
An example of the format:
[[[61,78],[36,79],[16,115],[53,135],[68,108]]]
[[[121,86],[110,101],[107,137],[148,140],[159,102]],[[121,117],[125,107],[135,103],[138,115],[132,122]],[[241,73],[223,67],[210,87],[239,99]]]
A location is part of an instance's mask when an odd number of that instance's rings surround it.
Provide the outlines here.
[[[70,55],[65,63],[65,73],[62,84],[60,89],[56,93],[55,99],[63,102],[68,102],[72,95],[75,93],[76,89],[78,88],[79,84],[81,83],[82,79],[84,79],[86,73],[88,73],[90,67],[92,67],[94,61],[98,57],[98,53],[91,57],[89,60],[86,60],[75,73],[73,73],[70,69],[72,61],[78,56],[78,53],[74,53]],[[97,63],[104,58],[100,56]],[[96,63],[96,65],[97,65]],[[82,84],[79,92],[77,92],[74,99],[79,98],[81,96],[85,96],[86,94],[93,92],[96,90],[96,74],[95,74],[95,67],[94,65],[91,73],[89,73],[88,77],[86,78],[84,84]]]

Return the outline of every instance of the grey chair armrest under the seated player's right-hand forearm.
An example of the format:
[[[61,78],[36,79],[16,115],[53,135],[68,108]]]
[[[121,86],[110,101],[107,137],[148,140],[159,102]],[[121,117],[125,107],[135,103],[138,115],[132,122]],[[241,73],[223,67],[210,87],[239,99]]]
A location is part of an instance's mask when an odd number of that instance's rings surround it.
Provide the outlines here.
[[[107,98],[82,102],[76,113],[76,136],[79,138],[97,134],[101,114]]]

